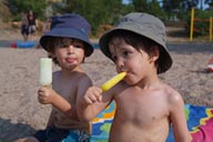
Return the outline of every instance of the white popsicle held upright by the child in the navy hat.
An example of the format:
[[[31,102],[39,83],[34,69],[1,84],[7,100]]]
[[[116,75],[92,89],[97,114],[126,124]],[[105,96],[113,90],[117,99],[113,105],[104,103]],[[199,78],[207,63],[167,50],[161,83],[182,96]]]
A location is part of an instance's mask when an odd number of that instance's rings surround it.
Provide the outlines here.
[[[52,83],[52,59],[40,59],[40,84],[51,85]]]

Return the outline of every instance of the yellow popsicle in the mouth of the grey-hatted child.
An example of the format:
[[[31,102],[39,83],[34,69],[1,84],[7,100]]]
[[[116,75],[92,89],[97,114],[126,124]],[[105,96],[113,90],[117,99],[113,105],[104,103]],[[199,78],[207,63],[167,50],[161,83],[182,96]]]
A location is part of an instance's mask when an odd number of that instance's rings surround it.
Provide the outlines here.
[[[109,89],[111,89],[113,85],[115,85],[118,82],[120,82],[124,77],[126,75],[126,72],[121,72],[119,74],[116,74],[115,77],[113,77],[111,80],[109,80],[108,82],[103,83],[101,85],[101,89],[105,92]]]

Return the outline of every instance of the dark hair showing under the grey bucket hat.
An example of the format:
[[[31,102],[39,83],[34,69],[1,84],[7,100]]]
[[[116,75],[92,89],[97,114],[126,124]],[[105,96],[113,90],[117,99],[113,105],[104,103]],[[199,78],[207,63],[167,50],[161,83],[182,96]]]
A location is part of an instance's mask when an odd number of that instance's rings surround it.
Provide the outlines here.
[[[150,57],[152,55],[152,52],[155,50],[155,48],[158,48],[160,57],[155,62],[155,67],[158,68],[158,72],[161,70],[159,69],[159,63],[161,62],[162,51],[161,51],[161,48],[159,48],[160,47],[159,43],[154,42],[149,38],[140,36],[138,33],[134,33],[131,31],[124,31],[124,30],[112,31],[109,34],[108,43],[116,38],[123,39],[128,44],[132,45],[138,51],[140,51],[140,49],[144,50]]]

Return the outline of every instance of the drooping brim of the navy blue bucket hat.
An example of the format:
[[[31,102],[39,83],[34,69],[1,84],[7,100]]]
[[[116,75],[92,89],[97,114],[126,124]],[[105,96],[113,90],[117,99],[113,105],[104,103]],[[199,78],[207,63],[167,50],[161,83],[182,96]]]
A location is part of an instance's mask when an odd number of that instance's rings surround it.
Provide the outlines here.
[[[87,47],[85,47],[85,57],[90,57],[93,52],[93,47],[85,36],[85,33],[79,29],[73,29],[73,28],[58,28],[58,29],[52,29],[49,32],[45,32],[41,39],[40,39],[40,44],[42,48],[47,51],[50,51],[47,48],[47,39],[48,37],[61,37],[61,38],[74,38],[83,41]]]

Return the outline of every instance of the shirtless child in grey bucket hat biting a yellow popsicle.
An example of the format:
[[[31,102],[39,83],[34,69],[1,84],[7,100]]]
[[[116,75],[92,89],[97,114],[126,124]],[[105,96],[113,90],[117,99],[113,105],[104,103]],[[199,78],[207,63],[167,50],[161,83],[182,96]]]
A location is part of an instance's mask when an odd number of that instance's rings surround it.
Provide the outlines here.
[[[175,142],[190,142],[183,99],[158,77],[172,65],[163,22],[146,13],[129,13],[99,44],[116,72],[128,73],[106,92],[91,87],[78,95],[79,118],[90,121],[114,100],[110,142],[165,142],[171,124]]]

